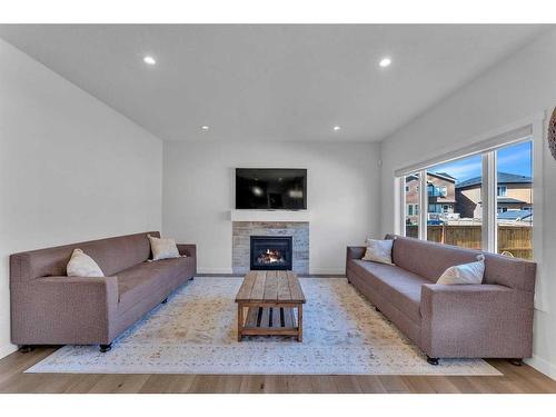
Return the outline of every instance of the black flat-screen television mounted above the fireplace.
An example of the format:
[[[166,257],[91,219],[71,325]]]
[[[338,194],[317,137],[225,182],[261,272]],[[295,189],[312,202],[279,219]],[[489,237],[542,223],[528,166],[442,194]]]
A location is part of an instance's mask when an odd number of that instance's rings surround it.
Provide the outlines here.
[[[307,209],[307,170],[236,168],[236,208]]]

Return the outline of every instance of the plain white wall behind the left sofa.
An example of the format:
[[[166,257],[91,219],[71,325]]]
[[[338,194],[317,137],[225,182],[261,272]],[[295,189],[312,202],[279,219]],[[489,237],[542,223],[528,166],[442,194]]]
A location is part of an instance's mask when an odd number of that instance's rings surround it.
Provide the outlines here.
[[[0,40],[0,357],[10,254],[161,228],[162,143]]]

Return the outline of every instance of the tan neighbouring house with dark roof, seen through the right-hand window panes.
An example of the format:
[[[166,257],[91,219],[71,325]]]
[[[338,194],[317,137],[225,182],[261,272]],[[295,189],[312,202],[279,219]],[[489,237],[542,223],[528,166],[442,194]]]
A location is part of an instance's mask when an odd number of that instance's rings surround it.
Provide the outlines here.
[[[508,172],[498,172],[498,214],[514,210],[533,209],[532,178]],[[461,218],[480,219],[481,206],[481,177],[468,179],[456,185],[456,211]]]

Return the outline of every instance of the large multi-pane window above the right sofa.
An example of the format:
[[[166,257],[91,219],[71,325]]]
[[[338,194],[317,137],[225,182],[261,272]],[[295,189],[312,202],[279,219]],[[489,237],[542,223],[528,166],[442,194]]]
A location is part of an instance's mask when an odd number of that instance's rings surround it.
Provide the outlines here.
[[[405,235],[533,259],[532,161],[527,139],[405,176]]]

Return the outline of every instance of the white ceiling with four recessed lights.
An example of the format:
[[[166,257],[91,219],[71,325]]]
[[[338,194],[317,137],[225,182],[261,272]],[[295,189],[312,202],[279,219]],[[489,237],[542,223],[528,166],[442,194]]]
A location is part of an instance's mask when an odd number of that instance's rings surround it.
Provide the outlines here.
[[[3,24],[0,37],[163,140],[376,141],[545,29]]]

